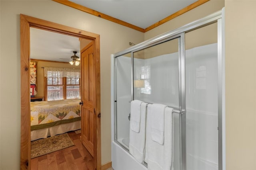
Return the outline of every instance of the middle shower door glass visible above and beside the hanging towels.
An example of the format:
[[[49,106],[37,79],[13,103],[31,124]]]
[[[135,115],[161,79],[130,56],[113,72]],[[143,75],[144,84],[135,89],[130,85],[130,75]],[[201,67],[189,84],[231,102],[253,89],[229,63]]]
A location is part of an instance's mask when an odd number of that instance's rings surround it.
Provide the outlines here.
[[[133,53],[133,98],[146,103],[164,104],[173,109],[181,109],[180,36],[152,45]],[[181,117],[172,114],[172,164],[174,170],[181,168]],[[147,150],[145,162],[147,163]]]

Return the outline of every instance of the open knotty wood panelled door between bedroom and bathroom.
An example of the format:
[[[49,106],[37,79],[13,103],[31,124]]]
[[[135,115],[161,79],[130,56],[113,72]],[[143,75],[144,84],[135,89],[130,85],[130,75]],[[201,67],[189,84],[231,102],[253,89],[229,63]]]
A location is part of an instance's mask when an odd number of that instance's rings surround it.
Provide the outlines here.
[[[82,122],[82,144],[94,157],[95,132],[96,132],[96,60],[94,57],[94,41],[81,51],[81,122]]]

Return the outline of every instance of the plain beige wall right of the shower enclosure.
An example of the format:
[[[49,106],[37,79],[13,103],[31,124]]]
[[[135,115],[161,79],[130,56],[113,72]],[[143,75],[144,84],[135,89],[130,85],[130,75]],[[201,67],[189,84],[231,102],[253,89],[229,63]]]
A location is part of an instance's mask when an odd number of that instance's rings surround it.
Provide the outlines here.
[[[256,1],[225,1],[226,169],[256,170]]]

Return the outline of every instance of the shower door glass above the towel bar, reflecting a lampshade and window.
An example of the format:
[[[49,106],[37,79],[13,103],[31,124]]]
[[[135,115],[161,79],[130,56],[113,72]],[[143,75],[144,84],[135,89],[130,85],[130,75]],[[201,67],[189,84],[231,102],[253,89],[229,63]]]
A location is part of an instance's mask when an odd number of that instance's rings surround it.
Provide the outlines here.
[[[179,108],[178,38],[133,53],[134,100]]]

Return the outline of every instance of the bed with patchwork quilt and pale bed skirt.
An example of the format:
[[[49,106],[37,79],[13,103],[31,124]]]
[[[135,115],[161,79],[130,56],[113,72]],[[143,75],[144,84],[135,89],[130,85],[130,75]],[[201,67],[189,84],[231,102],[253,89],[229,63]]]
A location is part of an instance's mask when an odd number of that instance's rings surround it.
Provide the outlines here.
[[[80,99],[30,103],[31,141],[81,129]]]

